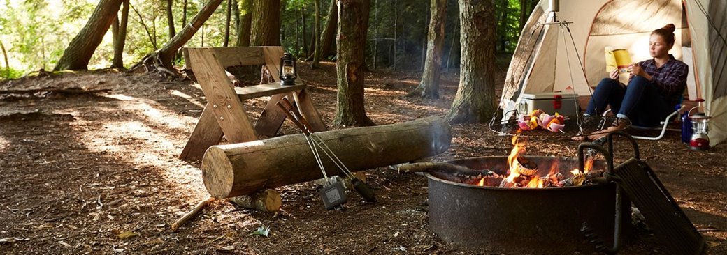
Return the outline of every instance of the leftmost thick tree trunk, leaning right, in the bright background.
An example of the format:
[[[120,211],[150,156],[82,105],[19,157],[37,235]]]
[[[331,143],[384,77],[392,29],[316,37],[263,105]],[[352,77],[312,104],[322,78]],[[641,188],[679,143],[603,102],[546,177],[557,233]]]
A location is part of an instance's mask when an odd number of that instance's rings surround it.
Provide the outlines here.
[[[55,71],[60,70],[87,70],[89,60],[94,51],[103,40],[111,23],[116,19],[122,0],[100,0],[84,28],[81,29],[68,48],[63,51],[63,56],[58,60]]]

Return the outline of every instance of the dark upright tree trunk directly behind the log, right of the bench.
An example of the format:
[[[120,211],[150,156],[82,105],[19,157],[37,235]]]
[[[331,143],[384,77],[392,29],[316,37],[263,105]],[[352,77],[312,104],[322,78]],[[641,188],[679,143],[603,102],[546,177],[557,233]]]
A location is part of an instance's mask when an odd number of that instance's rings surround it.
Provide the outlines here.
[[[338,1],[337,99],[334,125],[374,125],[364,109],[364,49],[369,1]]]

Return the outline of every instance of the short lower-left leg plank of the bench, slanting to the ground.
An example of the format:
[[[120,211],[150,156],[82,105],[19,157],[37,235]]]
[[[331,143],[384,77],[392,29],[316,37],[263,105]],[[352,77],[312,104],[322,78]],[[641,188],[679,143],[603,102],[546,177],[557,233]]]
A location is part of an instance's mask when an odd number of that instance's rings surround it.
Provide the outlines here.
[[[222,128],[214,120],[214,113],[212,113],[212,106],[207,104],[204,106],[202,114],[197,120],[197,125],[194,126],[192,134],[187,140],[187,144],[182,149],[180,159],[182,160],[199,160],[204,156],[204,151],[209,146],[217,145],[222,140]]]

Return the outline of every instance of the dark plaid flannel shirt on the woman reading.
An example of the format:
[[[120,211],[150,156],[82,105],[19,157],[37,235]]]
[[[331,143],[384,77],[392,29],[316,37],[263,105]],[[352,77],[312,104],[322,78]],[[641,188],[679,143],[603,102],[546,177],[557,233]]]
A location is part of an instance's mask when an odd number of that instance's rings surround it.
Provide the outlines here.
[[[667,103],[676,105],[680,102],[679,99],[686,88],[686,76],[689,72],[689,68],[684,62],[669,54],[669,61],[659,68],[656,67],[654,59],[644,60],[638,64],[644,72],[651,75],[651,83],[656,85],[656,89]]]

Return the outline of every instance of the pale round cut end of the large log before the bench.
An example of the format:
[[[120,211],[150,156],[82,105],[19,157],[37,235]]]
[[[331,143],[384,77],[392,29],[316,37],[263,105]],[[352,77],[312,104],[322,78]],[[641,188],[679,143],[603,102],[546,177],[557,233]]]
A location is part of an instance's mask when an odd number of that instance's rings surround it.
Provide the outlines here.
[[[209,147],[202,158],[202,180],[204,187],[213,198],[227,198],[233,189],[235,175],[232,163],[220,148]],[[211,168],[210,168],[211,167]],[[209,169],[214,169],[210,171]]]

